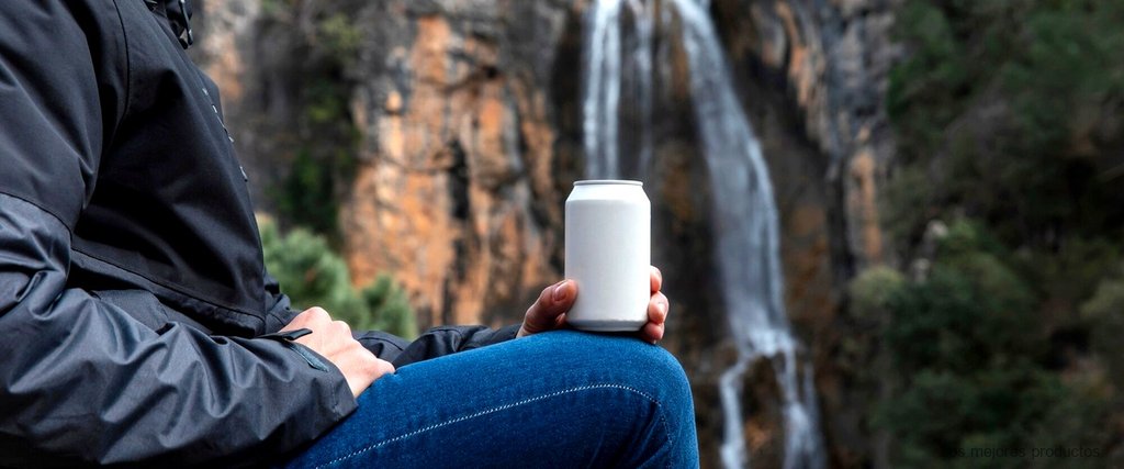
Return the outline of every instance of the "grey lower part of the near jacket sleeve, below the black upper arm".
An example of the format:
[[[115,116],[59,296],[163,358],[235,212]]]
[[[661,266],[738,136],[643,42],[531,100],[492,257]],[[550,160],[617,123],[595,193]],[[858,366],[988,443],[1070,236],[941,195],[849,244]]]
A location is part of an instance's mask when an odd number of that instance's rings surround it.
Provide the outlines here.
[[[67,244],[54,216],[0,193],[0,466],[237,465],[354,409],[339,371],[283,336],[157,333],[66,288]]]

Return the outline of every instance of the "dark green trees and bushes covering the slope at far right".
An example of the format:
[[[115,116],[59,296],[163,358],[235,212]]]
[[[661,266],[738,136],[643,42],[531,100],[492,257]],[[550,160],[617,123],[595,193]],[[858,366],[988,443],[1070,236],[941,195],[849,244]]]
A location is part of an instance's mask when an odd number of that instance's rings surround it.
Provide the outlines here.
[[[883,207],[903,268],[851,288],[889,460],[1121,463],[1124,3],[909,0],[898,33]],[[987,449],[1008,457],[966,458]]]

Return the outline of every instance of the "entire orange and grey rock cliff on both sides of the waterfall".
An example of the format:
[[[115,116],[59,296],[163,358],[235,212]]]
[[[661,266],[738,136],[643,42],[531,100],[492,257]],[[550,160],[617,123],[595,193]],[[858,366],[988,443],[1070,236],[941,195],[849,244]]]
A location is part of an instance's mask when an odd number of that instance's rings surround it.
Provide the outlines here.
[[[584,0],[311,2],[288,27],[259,0],[198,1],[192,51],[224,90],[227,120],[259,207],[285,173],[307,60],[301,37],[326,8],[360,34],[344,79],[359,135],[341,193],[343,245],[356,282],[393,274],[419,324],[509,324],[561,279],[563,204],[583,168]],[[835,463],[869,461],[861,404],[832,355],[842,286],[887,261],[876,199],[892,157],[882,110],[896,0],[711,0],[744,108],[770,164],[781,214],[786,300],[817,371],[822,429]],[[272,7],[271,7],[272,8]],[[656,97],[651,182],[653,262],[665,272],[665,344],[695,387],[704,466],[718,463],[717,376],[735,352],[714,265],[707,170],[697,157],[686,66]],[[685,117],[686,116],[686,117]],[[665,118],[664,118],[665,117]],[[627,123],[626,123],[627,125]],[[624,127],[623,127],[624,128]],[[280,160],[280,161],[279,161]],[[720,201],[719,201],[720,202]],[[747,375],[755,467],[777,465],[770,364]],[[771,406],[771,407],[770,407]],[[853,414],[853,413],[852,413]]]

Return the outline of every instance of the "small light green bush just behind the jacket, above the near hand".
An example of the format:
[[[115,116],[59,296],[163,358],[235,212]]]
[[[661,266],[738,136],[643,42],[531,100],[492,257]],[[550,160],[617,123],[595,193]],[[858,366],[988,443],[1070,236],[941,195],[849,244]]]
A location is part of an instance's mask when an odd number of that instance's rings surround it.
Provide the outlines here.
[[[356,290],[344,260],[324,236],[303,228],[282,235],[277,225],[260,223],[265,267],[278,279],[293,308],[320,306],[352,328],[380,330],[402,337],[417,335],[406,294],[386,274]]]

